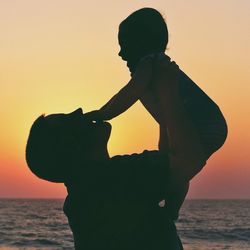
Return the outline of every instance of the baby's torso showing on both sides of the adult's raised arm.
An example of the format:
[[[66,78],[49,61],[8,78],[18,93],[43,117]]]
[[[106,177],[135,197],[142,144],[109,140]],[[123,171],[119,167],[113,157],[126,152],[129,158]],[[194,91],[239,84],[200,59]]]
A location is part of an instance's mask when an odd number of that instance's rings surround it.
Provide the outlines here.
[[[162,114],[159,112],[158,98],[151,89],[149,88],[140,101],[154,119],[161,123]],[[223,114],[218,105],[181,70],[179,93],[209,157],[223,145],[227,136]]]

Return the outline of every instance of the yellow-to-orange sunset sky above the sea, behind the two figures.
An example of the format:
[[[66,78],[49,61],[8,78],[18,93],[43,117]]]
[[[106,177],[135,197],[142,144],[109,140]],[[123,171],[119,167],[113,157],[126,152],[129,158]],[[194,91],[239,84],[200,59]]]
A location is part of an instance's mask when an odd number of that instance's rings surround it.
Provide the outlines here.
[[[189,198],[250,198],[248,0],[1,1],[0,197],[65,197],[63,184],[39,180],[26,166],[31,124],[41,113],[97,109],[124,86],[118,25],[146,6],[164,15],[167,53],[218,103],[229,126]],[[111,123],[111,155],[156,149],[158,126],[141,104]]]

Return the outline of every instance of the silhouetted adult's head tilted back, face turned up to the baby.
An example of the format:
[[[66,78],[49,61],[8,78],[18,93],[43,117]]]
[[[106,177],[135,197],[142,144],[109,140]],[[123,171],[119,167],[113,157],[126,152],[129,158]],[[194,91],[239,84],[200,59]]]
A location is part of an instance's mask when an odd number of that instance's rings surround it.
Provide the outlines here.
[[[66,182],[89,164],[106,160],[111,125],[87,120],[82,109],[69,114],[41,115],[33,123],[26,161],[38,177]]]

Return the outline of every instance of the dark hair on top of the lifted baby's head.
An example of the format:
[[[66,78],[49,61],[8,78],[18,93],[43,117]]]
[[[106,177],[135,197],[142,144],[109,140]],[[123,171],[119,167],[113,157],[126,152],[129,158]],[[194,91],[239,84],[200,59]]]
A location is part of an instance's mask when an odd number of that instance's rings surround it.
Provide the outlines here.
[[[121,22],[120,31],[142,45],[156,51],[165,51],[168,44],[167,24],[159,11],[142,8]]]

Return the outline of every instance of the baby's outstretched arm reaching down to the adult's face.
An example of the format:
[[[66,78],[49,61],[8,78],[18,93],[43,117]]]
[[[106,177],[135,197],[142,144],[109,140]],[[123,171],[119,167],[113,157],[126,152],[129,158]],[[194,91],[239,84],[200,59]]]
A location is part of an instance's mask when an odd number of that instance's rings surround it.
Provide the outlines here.
[[[92,118],[111,120],[129,109],[145,92],[151,81],[152,60],[143,60],[128,84],[113,96],[100,110],[92,111]],[[87,114],[88,115],[88,114]],[[95,117],[96,116],[96,117]]]

